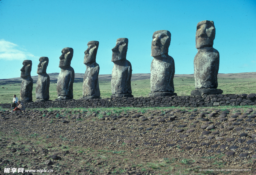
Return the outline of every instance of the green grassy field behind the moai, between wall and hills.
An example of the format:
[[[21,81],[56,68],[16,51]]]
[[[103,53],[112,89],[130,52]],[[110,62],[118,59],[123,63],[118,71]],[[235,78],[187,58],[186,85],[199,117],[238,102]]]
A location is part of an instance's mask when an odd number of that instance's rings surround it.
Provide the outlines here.
[[[20,92],[20,81],[1,82],[0,83],[0,103],[11,103],[13,95],[16,94],[18,99]],[[218,78],[218,89],[223,90],[223,94],[242,94],[256,93],[256,78]],[[73,84],[74,99],[82,97],[82,81]],[[132,94],[134,97],[148,97],[150,92],[150,79],[135,80],[131,82]],[[57,98],[56,82],[50,83],[50,100]],[[100,92],[102,98],[110,98],[111,81],[100,81]],[[4,88],[2,88],[4,87]],[[175,77],[175,92],[178,96],[189,96],[190,92],[195,89],[194,77]],[[33,85],[33,100],[36,100],[36,84]]]

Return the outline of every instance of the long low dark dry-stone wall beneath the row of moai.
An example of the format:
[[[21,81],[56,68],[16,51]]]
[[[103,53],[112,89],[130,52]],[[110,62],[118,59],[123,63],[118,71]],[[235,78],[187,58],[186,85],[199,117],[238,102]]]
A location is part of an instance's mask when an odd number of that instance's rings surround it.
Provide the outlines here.
[[[210,107],[210,106],[242,106],[255,105],[256,93],[247,94],[220,94],[203,96],[167,96],[167,97],[135,97],[135,98],[104,98],[86,100],[62,100],[47,102],[24,102],[25,108],[94,108],[94,107]],[[0,104],[2,108],[10,108],[10,103]]]

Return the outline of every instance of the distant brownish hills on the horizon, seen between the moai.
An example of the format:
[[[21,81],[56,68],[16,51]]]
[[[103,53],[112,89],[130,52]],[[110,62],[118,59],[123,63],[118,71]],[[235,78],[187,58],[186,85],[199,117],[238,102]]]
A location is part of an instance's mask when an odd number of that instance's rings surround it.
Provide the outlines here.
[[[50,80],[52,83],[57,83],[59,73],[50,73]],[[75,73],[74,82],[82,82],[84,74]],[[194,74],[175,74],[174,77],[193,77]],[[228,77],[228,78],[256,78],[256,72],[244,72],[244,73],[233,73],[233,74],[218,74],[218,77]],[[36,83],[38,76],[32,76],[34,83]],[[150,79],[150,73],[148,74],[132,74],[132,81],[134,80],[144,80]],[[7,83],[21,83],[22,78],[8,78],[0,79],[0,84]],[[99,75],[99,81],[111,81],[111,74]]]

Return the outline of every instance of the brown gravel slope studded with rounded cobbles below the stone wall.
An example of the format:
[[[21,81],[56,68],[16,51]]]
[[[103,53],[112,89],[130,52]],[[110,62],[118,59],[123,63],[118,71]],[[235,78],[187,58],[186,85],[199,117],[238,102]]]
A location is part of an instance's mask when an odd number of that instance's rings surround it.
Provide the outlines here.
[[[100,111],[86,109],[63,109],[63,110],[24,110],[20,112],[3,111],[0,112],[0,130],[2,135],[22,134],[25,138],[41,137],[51,140],[63,148],[64,144],[77,145],[81,147],[91,147],[99,150],[108,147],[109,150],[140,150],[141,156],[147,159],[157,157],[201,157],[210,161],[209,157],[215,157],[213,162],[220,162],[226,168],[255,168],[256,158],[256,108],[166,108],[164,110],[138,109],[138,110],[112,110]],[[1,149],[8,149],[11,153],[2,154],[0,167],[8,167],[6,157],[15,154],[7,137],[0,140]],[[47,141],[47,142],[48,142]],[[16,141],[14,144],[25,144],[28,141]],[[13,144],[13,145],[14,145]],[[49,146],[48,146],[49,147]],[[39,149],[39,148],[38,148]],[[33,148],[33,154],[44,152]],[[46,149],[47,150],[47,149]],[[19,150],[18,150],[19,151]],[[63,151],[63,150],[62,150]],[[29,151],[27,151],[29,152]],[[149,154],[150,153],[150,154]],[[11,154],[11,155],[10,155]],[[32,154],[32,157],[33,157]],[[52,154],[52,155],[50,155]],[[132,154],[132,153],[131,153]],[[21,150],[19,156],[24,156],[25,151]],[[63,155],[63,152],[45,151],[45,156]],[[219,155],[216,156],[216,155]],[[79,153],[76,154],[79,156]],[[123,155],[126,156],[126,155]],[[127,155],[129,156],[129,155]],[[154,157],[155,156],[155,157]],[[84,157],[86,158],[86,157]],[[87,157],[88,158],[88,157]],[[41,157],[42,159],[42,157]],[[93,158],[92,158],[93,159]],[[141,158],[140,158],[141,159]],[[38,160],[38,157],[37,157]],[[51,157],[39,162],[58,160]],[[193,159],[201,166],[212,167],[203,160]],[[47,166],[56,166],[55,163]],[[100,163],[101,164],[101,163]],[[99,165],[100,165],[99,164]],[[103,163],[102,163],[103,164]],[[215,164],[216,165],[216,164]],[[13,167],[10,164],[9,167]],[[40,163],[30,167],[42,168]],[[143,171],[142,168],[135,168],[133,171],[127,165],[125,172],[120,174],[157,174],[157,170]],[[76,167],[76,166],[74,166]],[[125,165],[120,165],[121,168]],[[212,167],[214,168],[214,167]],[[65,169],[65,168],[63,168]],[[77,168],[76,174],[110,174],[114,173],[110,169],[104,171],[84,170]],[[170,172],[169,172],[170,173]],[[167,173],[167,174],[169,174]],[[195,171],[194,171],[195,173]],[[188,172],[188,174],[194,174]],[[236,174],[238,172],[232,172]],[[241,174],[252,174],[252,172],[240,172]],[[9,173],[10,174],[10,173]],[[35,174],[35,173],[34,173]],[[68,170],[56,171],[54,174],[69,174]],[[71,173],[72,174],[72,173]],[[172,173],[170,173],[172,174]],[[175,174],[173,172],[173,174]],[[195,173],[197,174],[197,173]],[[210,173],[216,174],[216,173]],[[220,173],[217,173],[220,174]]]

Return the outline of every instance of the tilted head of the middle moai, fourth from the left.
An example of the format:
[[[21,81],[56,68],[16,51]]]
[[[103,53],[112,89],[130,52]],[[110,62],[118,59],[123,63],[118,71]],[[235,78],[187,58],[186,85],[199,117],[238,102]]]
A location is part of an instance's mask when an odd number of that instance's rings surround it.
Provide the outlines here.
[[[96,55],[99,47],[98,41],[89,41],[87,44],[88,48],[84,51],[84,64],[92,64],[96,62]]]

